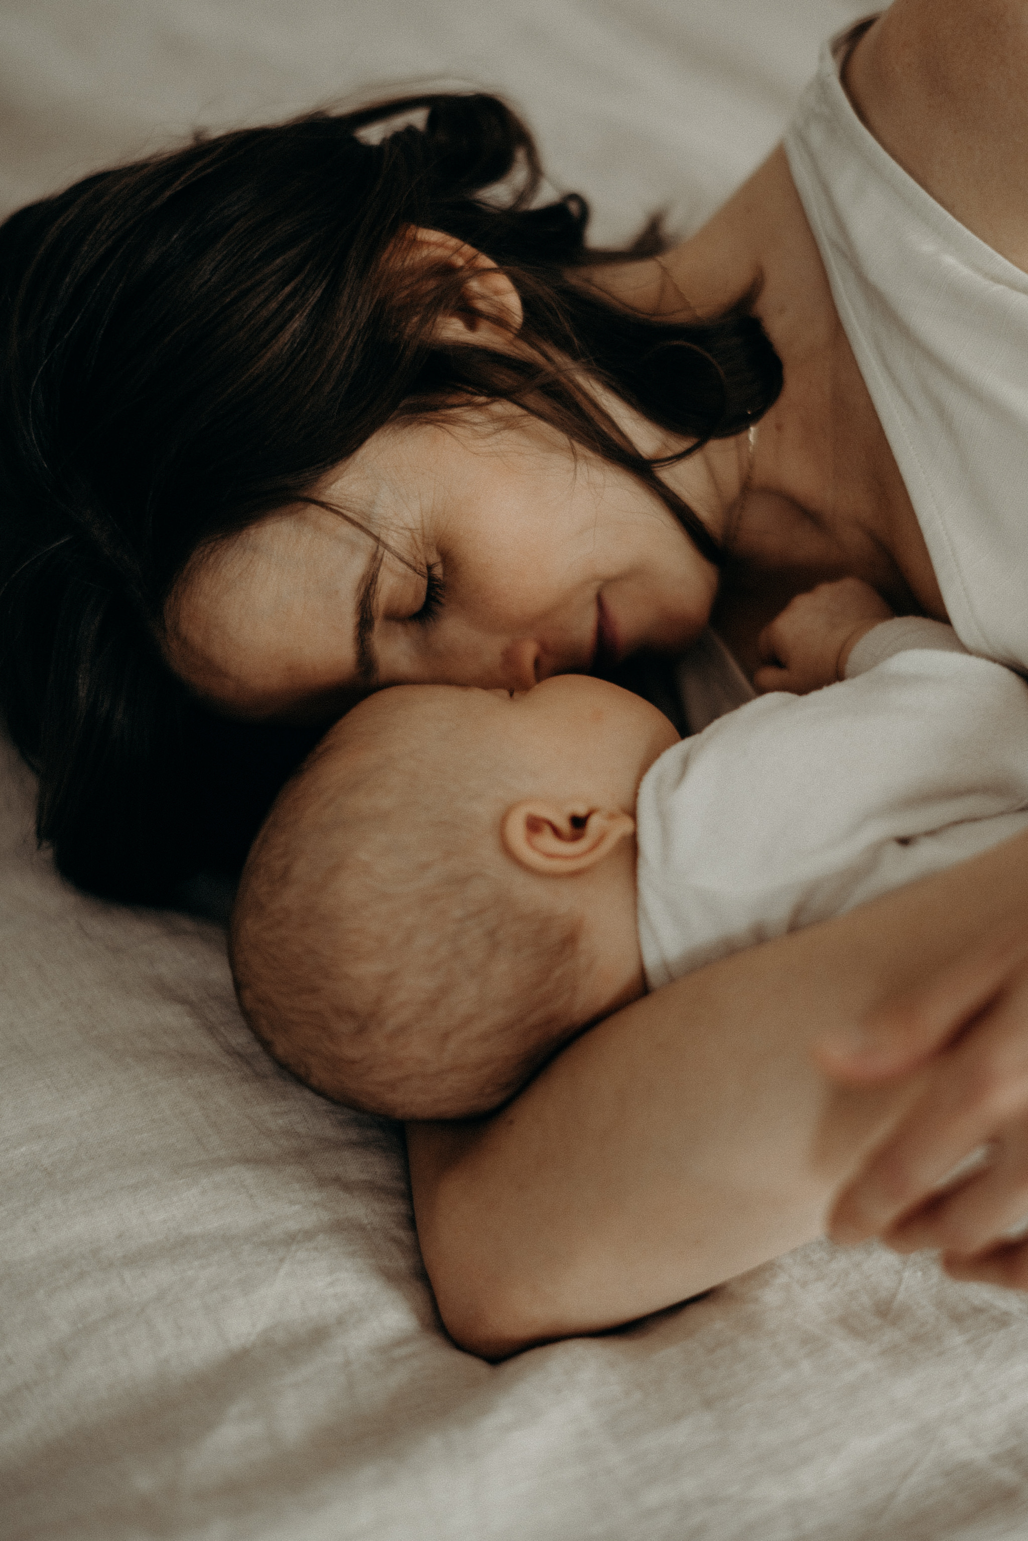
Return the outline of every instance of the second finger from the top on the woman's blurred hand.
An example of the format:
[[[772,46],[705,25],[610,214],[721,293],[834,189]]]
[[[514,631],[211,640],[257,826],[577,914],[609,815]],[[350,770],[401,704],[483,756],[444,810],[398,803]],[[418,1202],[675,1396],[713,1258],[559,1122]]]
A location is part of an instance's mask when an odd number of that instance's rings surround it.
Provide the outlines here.
[[[931,1202],[959,1162],[1028,1120],[1028,986],[1011,992],[926,1073],[900,1128],[837,1197],[828,1233],[839,1242],[885,1236]]]

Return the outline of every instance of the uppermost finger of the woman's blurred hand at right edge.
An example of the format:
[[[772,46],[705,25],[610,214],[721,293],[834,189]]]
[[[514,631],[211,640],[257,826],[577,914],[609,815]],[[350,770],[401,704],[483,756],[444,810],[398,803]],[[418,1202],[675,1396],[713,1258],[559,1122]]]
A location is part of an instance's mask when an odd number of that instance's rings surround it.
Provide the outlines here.
[[[976,948],[916,991],[888,1002],[845,1034],[820,1039],[816,1063],[833,1080],[865,1085],[906,1076],[960,1036],[1005,989],[1028,983],[1028,928]],[[1025,1000],[1028,1032],[1028,995]]]

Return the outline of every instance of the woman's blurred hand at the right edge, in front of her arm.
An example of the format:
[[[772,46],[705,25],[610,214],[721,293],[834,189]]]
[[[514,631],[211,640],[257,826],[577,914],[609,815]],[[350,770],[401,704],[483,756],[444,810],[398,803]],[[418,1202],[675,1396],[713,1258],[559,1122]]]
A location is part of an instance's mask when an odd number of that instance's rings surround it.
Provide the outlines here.
[[[956,1279],[1028,1290],[1028,925],[891,1002],[859,1037],[825,1039],[814,1059],[849,1086],[925,1071],[836,1199],[833,1239],[939,1248]]]

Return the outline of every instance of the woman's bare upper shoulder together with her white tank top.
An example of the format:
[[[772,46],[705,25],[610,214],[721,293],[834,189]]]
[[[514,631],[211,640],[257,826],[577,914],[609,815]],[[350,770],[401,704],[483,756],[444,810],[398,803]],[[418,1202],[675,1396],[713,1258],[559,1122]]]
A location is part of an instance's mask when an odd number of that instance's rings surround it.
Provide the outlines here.
[[[825,51],[785,151],[945,610],[973,652],[1025,667],[1028,106],[993,112],[988,80],[1016,15],[1003,79],[1028,100],[1023,6],[965,23],[951,0],[897,0]]]

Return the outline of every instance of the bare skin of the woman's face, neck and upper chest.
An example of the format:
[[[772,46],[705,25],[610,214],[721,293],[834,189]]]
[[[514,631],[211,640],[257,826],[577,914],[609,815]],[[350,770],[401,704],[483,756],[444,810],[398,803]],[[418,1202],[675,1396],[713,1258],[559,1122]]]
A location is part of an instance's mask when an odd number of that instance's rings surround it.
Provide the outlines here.
[[[946,618],[780,149],[691,240],[654,262],[591,270],[591,280],[648,311],[674,314],[688,296],[689,316],[759,288],[754,310],[785,388],[760,422],[753,465],[745,439],[716,441],[663,472],[731,552],[713,618],[748,673],[763,627],[819,582],[853,575],[897,613]],[[682,447],[620,416],[645,453]],[[708,619],[713,569],[637,484],[600,464],[576,468],[539,425],[500,419],[380,430],[320,488],[371,513],[391,547],[369,680],[522,690],[588,669],[597,596],[622,656],[680,652]],[[232,715],[331,715],[352,700],[368,559],[366,536],[320,509],[243,532],[183,586],[172,663]],[[446,598],[425,626],[422,575],[436,567]]]

